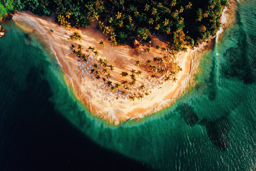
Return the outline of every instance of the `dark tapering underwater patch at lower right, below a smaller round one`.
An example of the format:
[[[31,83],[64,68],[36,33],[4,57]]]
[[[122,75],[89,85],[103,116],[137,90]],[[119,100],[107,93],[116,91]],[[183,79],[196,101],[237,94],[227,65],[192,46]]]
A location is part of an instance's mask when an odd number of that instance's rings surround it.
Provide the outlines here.
[[[211,142],[221,151],[228,150],[230,123],[227,116],[222,116],[216,121],[208,122],[203,119],[199,122],[204,125]]]

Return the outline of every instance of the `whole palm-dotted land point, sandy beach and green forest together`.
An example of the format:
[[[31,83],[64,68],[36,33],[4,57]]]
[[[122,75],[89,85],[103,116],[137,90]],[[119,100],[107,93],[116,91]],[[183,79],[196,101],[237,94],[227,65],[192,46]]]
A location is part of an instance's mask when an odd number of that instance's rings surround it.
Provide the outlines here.
[[[14,22],[45,38],[77,98],[115,125],[138,121],[179,97],[193,47],[216,35],[229,5],[226,0],[12,3],[0,4],[2,13],[23,10],[13,15]]]

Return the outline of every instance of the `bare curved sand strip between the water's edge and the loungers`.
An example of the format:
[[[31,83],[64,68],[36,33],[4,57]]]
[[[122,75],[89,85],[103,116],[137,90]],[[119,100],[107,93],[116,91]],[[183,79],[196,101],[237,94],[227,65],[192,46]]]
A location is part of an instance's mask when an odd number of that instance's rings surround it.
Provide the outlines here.
[[[54,17],[52,17],[54,18]],[[76,92],[76,96],[79,100],[81,100],[89,109],[89,111],[98,117],[101,117],[104,120],[114,122],[115,125],[118,125],[120,121],[126,121],[129,119],[134,119],[137,117],[143,117],[145,115],[150,115],[153,113],[156,113],[166,107],[168,107],[170,104],[172,104],[182,93],[184,88],[186,87],[186,82],[189,79],[189,75],[191,72],[192,64],[191,64],[191,53],[193,50],[190,48],[188,49],[188,52],[183,53],[183,55],[177,55],[179,56],[179,63],[181,64],[181,68],[183,68],[183,71],[181,71],[177,75],[177,82],[172,84],[170,82],[166,82],[158,88],[152,90],[152,94],[149,95],[148,98],[142,99],[142,100],[136,100],[135,102],[130,102],[129,100],[126,102],[126,108],[121,108],[120,105],[112,105],[105,107],[103,106],[105,103],[100,104],[97,103],[97,101],[93,98],[91,98],[89,95],[85,95],[84,92],[86,92],[88,89],[86,87],[82,86],[78,74],[75,73],[74,68],[71,67],[70,63],[74,62],[76,63],[74,59],[72,59],[71,52],[69,51],[69,44],[72,42],[67,40],[68,35],[71,35],[74,31],[78,32],[86,32],[86,29],[88,28],[83,28],[80,30],[71,28],[71,30],[65,30],[65,28],[59,26],[57,23],[54,22],[54,19],[50,17],[42,16],[39,17],[37,15],[34,15],[30,11],[23,11],[19,12],[18,14],[15,14],[13,16],[13,20],[15,21],[16,24],[19,22],[26,22],[29,25],[32,25],[35,27],[37,31],[39,31],[40,34],[42,34],[48,41],[50,48],[52,52],[55,54],[56,59],[63,70],[65,76],[66,76],[66,81],[68,85],[71,85]],[[94,22],[95,23],[95,22]],[[89,28],[93,29],[93,24]],[[19,25],[19,24],[18,24]],[[49,33],[50,29],[54,29],[54,33]],[[65,32],[67,34],[65,34]],[[105,37],[102,33],[100,34],[101,38]],[[84,35],[82,35],[84,37]],[[56,38],[58,37],[58,38]],[[92,41],[92,37],[87,37],[85,40],[85,44],[89,44],[89,41]],[[100,41],[100,40],[94,40],[94,41]],[[83,42],[83,40],[82,40]],[[109,42],[106,42],[109,43]],[[94,43],[93,46],[96,46]],[[105,45],[107,46],[107,45]],[[114,49],[124,49],[128,48],[130,46],[128,45],[123,45],[123,46],[115,46]],[[105,48],[105,47],[104,47]],[[104,49],[103,48],[103,49]],[[126,49],[125,49],[126,50]],[[112,47],[111,47],[112,51]],[[109,52],[113,54],[113,52]],[[64,54],[69,54],[65,56]],[[155,52],[151,52],[155,53]],[[103,55],[104,54],[102,52]],[[111,55],[112,55],[111,54]],[[141,55],[143,56],[143,55]],[[100,55],[101,57],[101,55]],[[173,85],[173,86],[171,86]],[[167,89],[167,90],[166,90]],[[137,104],[136,104],[137,103]]]

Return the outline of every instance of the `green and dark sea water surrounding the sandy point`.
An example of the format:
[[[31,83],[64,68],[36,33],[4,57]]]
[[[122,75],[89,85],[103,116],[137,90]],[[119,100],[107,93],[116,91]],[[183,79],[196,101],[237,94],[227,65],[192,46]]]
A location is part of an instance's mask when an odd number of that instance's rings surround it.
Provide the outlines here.
[[[1,170],[255,170],[255,5],[240,0],[212,48],[192,54],[198,68],[174,104],[119,126],[76,99],[36,32],[3,23]]]

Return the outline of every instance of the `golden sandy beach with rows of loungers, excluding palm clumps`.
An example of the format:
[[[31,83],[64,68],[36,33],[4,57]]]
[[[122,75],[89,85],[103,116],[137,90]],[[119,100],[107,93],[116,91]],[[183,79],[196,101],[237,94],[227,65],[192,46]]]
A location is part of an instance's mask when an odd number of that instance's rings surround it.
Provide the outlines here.
[[[115,125],[118,125],[120,121],[137,117],[141,118],[168,107],[179,96],[186,85],[191,68],[191,49],[188,48],[187,52],[176,54],[175,59],[168,50],[163,53],[160,49],[155,48],[156,45],[168,47],[168,42],[160,35],[152,35],[151,41],[154,47],[151,47],[150,53],[146,54],[144,49],[150,47],[150,43],[141,43],[141,46],[136,51],[129,46],[129,42],[112,47],[110,41],[108,41],[109,36],[104,35],[101,30],[95,30],[99,20],[92,22],[89,28],[70,28],[70,30],[55,23],[54,15],[51,17],[40,17],[30,11],[22,11],[15,14],[13,20],[21,28],[28,30],[22,24],[26,22],[33,26],[33,28],[30,28],[31,32],[33,32],[33,29],[36,29],[45,37],[66,75],[67,83],[73,87],[77,98],[84,102],[91,113],[104,120],[114,122]],[[54,31],[51,32],[50,29]],[[71,42],[68,40],[69,36],[74,32],[81,34],[83,37],[81,41]],[[100,41],[105,42],[104,47],[100,46]],[[70,49],[71,44],[76,47],[79,44],[83,45],[82,51],[88,57],[87,62],[78,61],[81,58],[73,54]],[[98,57],[94,56],[93,51],[88,49],[89,46],[97,49],[100,55]],[[153,62],[153,57],[164,56],[168,57],[168,61],[163,65],[159,66],[157,62]],[[108,68],[108,71],[111,73],[109,80],[113,84],[116,82],[122,83],[122,81],[127,81],[127,84],[131,82],[130,76],[122,77],[120,75],[122,71],[131,74],[132,69],[136,71],[141,70],[142,74],[136,76],[136,84],[131,86],[129,91],[123,93],[123,85],[112,91],[102,80],[105,77],[102,72],[104,67],[99,66],[97,68],[101,71],[100,79],[95,79],[95,75],[89,73],[90,69],[93,68],[93,64],[98,63],[100,58],[107,59],[108,64],[114,66],[114,70]],[[151,60],[152,66],[156,65],[159,68],[164,68],[166,70],[165,74],[161,77],[159,76],[159,78],[151,78],[150,76],[154,74],[154,70],[147,68],[146,61],[148,59]],[[141,60],[140,66],[135,65],[136,60]],[[182,71],[176,75],[176,82],[172,80],[165,81],[169,72],[168,68],[172,67],[173,63],[177,63],[182,68]],[[145,85],[143,90],[140,89],[142,84]],[[146,92],[150,92],[150,94],[146,96]],[[136,98],[136,100],[131,101],[129,99],[131,95],[141,95],[143,98]]]

